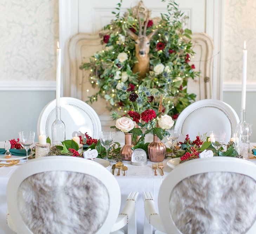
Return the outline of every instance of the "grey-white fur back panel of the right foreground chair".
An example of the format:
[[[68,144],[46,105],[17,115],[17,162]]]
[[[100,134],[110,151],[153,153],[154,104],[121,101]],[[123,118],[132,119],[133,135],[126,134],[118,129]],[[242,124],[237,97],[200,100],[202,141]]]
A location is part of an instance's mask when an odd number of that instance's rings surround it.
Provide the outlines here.
[[[170,212],[183,234],[245,233],[256,219],[256,182],[228,172],[211,172],[180,181]]]

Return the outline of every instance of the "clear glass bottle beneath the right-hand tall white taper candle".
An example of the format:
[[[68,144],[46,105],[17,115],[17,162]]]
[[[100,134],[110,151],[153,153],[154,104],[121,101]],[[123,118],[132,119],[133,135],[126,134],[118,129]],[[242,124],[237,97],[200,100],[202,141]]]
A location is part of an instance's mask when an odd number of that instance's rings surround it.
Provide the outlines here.
[[[236,154],[239,158],[249,160],[250,152],[250,127],[245,122],[245,109],[241,108],[240,122],[236,126],[235,133]]]

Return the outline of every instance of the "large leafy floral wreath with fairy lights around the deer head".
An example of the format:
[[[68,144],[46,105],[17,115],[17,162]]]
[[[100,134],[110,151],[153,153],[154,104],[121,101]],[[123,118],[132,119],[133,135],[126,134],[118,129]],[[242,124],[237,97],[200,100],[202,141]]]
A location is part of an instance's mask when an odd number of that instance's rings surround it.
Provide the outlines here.
[[[162,0],[165,1],[165,0]],[[139,6],[127,9],[120,16],[121,3],[117,4],[118,12],[112,12],[116,19],[104,27],[106,34],[100,34],[105,44],[103,51],[97,52],[90,62],[81,65],[81,69],[90,69],[90,82],[93,88],[98,88],[96,94],[89,97],[88,102],[97,101],[98,97],[109,102],[110,110],[126,113],[131,110],[131,103],[122,91],[140,96],[142,88],[147,87],[152,92],[146,108],[157,110],[160,95],[163,95],[163,113],[177,119],[182,110],[195,101],[196,95],[187,93],[189,78],[198,76],[195,65],[190,64],[192,50],[192,32],[183,29],[187,16],[178,10],[174,0],[167,4],[168,14],[161,14],[161,19],[141,18],[136,14]],[[137,62],[134,40],[127,30],[135,34],[139,32],[139,23],[146,27],[146,35],[157,30],[150,40],[150,68],[146,77],[139,79],[138,73],[132,72]],[[147,25],[146,25],[147,22]],[[140,99],[137,99],[140,100]]]

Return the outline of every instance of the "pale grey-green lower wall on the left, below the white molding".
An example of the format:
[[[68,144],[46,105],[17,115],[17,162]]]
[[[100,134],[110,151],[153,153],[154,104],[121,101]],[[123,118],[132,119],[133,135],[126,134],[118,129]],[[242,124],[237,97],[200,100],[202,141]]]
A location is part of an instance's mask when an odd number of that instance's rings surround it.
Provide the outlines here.
[[[19,131],[34,131],[44,106],[55,99],[55,91],[1,91],[0,141],[17,139]]]

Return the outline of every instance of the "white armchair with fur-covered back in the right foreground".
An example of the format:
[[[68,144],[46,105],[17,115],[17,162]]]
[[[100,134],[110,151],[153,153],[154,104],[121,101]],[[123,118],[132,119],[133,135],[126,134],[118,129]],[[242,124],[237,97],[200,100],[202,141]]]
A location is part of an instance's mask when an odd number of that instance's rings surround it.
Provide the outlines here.
[[[193,159],[164,179],[156,211],[143,192],[144,234],[256,233],[256,165],[231,157]],[[152,226],[151,226],[152,225]]]

